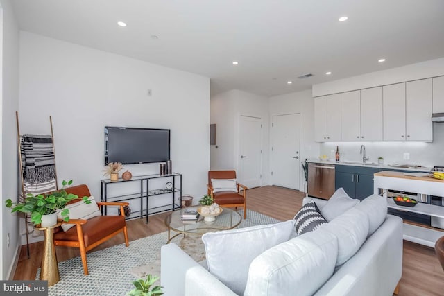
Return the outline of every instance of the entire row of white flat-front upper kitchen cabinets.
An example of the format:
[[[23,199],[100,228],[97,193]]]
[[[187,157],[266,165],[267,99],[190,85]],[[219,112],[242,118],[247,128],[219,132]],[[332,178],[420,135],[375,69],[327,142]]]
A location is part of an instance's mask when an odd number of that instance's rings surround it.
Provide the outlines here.
[[[320,96],[315,139],[432,141],[432,111],[444,113],[444,76]]]

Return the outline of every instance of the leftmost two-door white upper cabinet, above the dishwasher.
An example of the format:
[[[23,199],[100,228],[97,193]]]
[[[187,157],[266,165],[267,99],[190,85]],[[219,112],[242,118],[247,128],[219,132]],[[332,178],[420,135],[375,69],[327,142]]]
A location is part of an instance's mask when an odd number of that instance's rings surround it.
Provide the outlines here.
[[[314,98],[314,138],[341,141],[341,94]]]

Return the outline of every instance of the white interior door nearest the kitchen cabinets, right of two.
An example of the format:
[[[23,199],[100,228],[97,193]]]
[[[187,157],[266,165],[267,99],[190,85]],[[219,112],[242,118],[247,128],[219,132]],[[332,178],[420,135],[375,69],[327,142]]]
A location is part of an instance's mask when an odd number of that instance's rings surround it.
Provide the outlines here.
[[[271,183],[299,190],[300,114],[273,116]]]

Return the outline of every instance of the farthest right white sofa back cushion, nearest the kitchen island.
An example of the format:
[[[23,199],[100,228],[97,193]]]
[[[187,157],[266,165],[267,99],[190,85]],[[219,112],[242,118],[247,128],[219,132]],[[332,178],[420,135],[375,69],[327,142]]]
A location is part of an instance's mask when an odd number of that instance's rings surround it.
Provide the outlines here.
[[[377,194],[373,194],[359,202],[356,208],[367,214],[369,223],[368,236],[370,236],[386,219],[387,199]]]

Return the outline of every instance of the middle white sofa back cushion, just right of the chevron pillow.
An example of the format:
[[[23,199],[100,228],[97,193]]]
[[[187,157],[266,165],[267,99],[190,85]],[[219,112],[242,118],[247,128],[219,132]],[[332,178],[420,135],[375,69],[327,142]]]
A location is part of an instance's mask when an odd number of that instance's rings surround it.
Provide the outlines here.
[[[336,260],[336,267],[338,267],[348,261],[366,241],[368,235],[367,214],[352,208],[323,225],[321,229],[338,238],[338,258]]]

